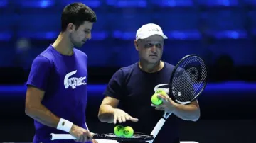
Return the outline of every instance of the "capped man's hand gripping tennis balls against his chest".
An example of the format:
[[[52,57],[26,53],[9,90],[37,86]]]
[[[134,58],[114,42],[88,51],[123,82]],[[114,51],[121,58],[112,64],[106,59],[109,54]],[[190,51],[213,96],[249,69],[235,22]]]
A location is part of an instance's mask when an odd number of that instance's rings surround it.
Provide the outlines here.
[[[168,113],[173,113],[177,103],[172,101],[169,96],[163,96],[159,94],[158,97],[163,101],[163,103],[160,105],[151,104],[151,106],[155,107],[156,110],[164,110]]]

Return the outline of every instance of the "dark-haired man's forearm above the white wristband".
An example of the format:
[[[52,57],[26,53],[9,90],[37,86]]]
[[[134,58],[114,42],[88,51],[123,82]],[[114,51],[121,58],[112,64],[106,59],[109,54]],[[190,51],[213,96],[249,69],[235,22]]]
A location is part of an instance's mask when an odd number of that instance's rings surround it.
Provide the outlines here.
[[[60,121],[60,118],[50,112],[50,110],[48,110],[48,108],[46,108],[44,105],[26,109],[26,115],[49,127],[56,128],[58,126],[58,122]]]

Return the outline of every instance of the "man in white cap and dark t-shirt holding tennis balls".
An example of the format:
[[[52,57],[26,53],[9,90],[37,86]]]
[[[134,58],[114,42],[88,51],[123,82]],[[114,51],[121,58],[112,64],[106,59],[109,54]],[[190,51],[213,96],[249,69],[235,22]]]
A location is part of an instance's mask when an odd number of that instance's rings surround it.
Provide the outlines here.
[[[174,65],[161,61],[164,39],[167,36],[154,23],[137,30],[134,46],[139,53],[139,62],[114,73],[105,90],[98,117],[101,122],[129,125],[134,132],[150,134],[166,110],[174,115],[166,120],[154,142],[178,143],[178,118],[196,121],[200,109],[197,101],[178,105],[168,96],[162,97],[166,100],[162,105],[151,104],[151,96],[158,88],[169,91],[169,79],[174,69]]]

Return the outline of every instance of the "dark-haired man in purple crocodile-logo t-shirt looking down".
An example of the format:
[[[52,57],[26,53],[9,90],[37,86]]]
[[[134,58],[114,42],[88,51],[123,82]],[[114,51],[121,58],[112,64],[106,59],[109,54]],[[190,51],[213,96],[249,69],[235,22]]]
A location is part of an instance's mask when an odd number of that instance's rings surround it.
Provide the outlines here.
[[[70,133],[75,140],[96,142],[87,128],[87,55],[76,49],[91,38],[95,13],[82,3],[65,6],[58,38],[34,60],[26,85],[26,115],[34,119],[33,142],[50,141],[50,133]]]

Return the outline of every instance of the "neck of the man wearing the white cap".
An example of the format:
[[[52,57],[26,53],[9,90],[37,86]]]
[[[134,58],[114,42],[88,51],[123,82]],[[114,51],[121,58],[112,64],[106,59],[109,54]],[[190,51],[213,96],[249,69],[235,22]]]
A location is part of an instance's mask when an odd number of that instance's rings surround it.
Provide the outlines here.
[[[161,69],[163,69],[163,67],[164,67],[164,62],[162,61],[159,61],[156,64],[148,64],[148,63],[139,61],[139,68],[148,73],[154,73],[154,72],[160,71]]]

